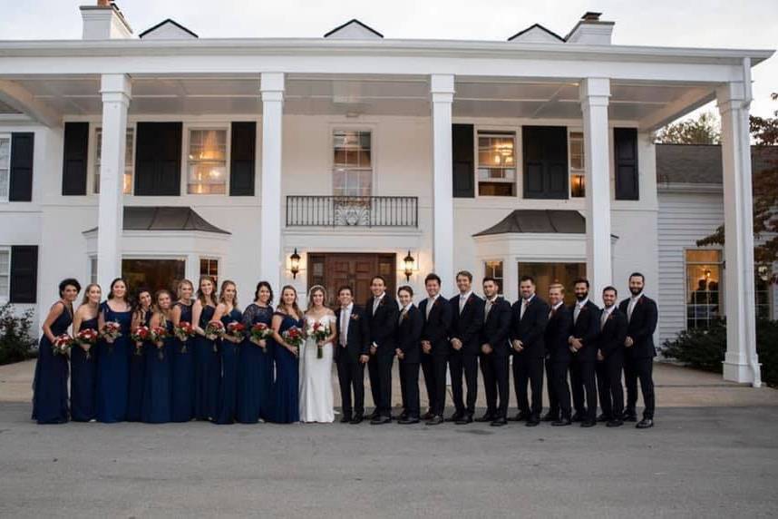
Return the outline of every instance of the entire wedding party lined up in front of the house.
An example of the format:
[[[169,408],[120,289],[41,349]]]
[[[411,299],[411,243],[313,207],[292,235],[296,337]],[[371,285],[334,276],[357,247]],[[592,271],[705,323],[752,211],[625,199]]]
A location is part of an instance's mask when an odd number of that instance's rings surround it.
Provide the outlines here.
[[[575,281],[576,302],[566,307],[565,287],[552,284],[547,303],[535,293],[534,279],[525,277],[521,299],[511,306],[498,295],[495,279],[482,280],[481,298],[472,274],[461,271],[459,295],[445,299],[441,279],[430,274],[426,297],[416,306],[413,288],[390,295],[385,279],[375,276],[373,297],[364,305],[344,286],[337,308],[327,308],[326,289],[315,286],[303,310],[294,287],[283,287],[276,303],[273,288],[260,281],[241,311],[235,283],[225,280],[218,288],[209,276],[197,288],[181,280],[175,294],[130,294],[124,279],[114,279],[107,294],[90,284],[78,305],[81,285],[64,279],[42,327],[33,419],[329,423],[335,420],[336,364],[342,423],[621,426],[637,422],[639,380],[645,409],[637,426],[646,428],[654,415],[656,303],[643,294],[644,282],[641,274],[631,275],[630,298],[620,304],[615,288],[604,289],[600,309],[589,299],[586,279]],[[393,416],[395,358],[402,411]],[[487,408],[476,417],[479,366]],[[369,416],[365,367],[374,401]],[[511,370],[519,412],[509,417]],[[424,415],[420,372],[429,401]],[[549,410],[542,415],[544,373]],[[454,412],[444,417],[447,374]]]

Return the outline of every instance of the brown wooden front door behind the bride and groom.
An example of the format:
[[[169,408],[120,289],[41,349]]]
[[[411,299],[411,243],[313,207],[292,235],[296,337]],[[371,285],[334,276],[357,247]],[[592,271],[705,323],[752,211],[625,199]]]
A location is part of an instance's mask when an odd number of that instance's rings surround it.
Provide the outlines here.
[[[395,254],[377,253],[309,253],[308,288],[322,285],[327,292],[327,305],[336,308],[337,289],[344,285],[354,289],[354,300],[365,304],[371,297],[370,281],[376,274],[386,279],[386,292],[394,295]]]

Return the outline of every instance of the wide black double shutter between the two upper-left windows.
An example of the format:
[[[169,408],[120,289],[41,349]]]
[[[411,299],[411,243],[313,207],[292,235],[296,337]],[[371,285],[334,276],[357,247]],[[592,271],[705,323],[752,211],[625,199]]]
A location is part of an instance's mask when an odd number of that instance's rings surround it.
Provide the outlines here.
[[[180,122],[138,122],[135,142],[135,195],[179,196]]]

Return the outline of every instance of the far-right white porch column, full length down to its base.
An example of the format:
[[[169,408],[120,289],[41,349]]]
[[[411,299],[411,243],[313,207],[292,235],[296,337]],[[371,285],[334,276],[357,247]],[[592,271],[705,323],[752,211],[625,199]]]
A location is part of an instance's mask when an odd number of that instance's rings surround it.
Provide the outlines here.
[[[750,69],[750,64],[748,67]],[[746,73],[746,77],[748,74]],[[726,355],[724,377],[760,387],[754,308],[754,212],[747,83],[718,89],[724,169]]]

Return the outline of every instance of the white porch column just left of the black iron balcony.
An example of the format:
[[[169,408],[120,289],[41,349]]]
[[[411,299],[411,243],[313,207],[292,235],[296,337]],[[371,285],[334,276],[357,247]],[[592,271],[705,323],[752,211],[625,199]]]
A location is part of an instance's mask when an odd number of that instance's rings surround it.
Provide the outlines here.
[[[262,209],[260,212],[259,277],[280,289],[281,152],[284,118],[284,74],[262,73]]]

